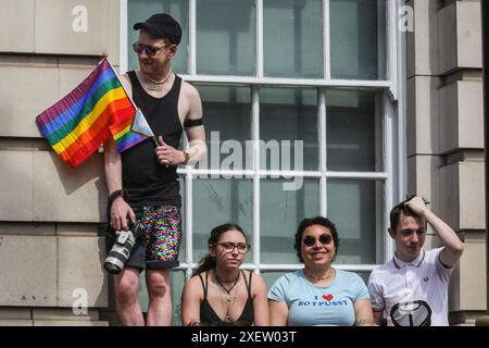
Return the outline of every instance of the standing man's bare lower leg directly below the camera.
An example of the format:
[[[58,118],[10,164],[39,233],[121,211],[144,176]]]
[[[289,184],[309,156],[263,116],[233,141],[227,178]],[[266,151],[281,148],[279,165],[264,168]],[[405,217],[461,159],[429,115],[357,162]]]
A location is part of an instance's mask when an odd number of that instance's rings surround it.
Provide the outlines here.
[[[114,276],[115,306],[118,320],[124,326],[145,326],[139,304],[139,270],[125,268]]]

